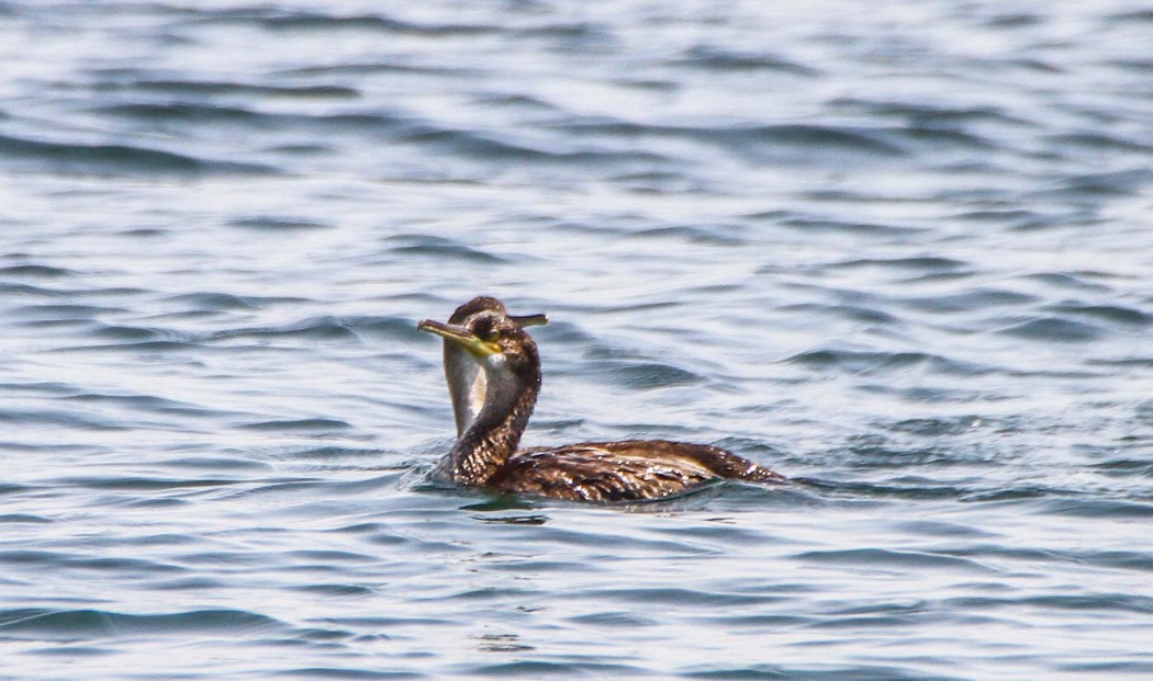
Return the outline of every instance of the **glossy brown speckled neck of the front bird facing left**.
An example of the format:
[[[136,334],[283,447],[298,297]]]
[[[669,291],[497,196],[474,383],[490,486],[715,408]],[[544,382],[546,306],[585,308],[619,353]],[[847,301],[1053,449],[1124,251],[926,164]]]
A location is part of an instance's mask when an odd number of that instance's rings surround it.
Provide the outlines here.
[[[485,368],[485,378],[484,406],[449,457],[450,475],[465,485],[483,485],[508,461],[541,392],[538,365],[527,376]]]

